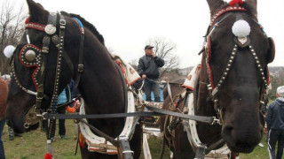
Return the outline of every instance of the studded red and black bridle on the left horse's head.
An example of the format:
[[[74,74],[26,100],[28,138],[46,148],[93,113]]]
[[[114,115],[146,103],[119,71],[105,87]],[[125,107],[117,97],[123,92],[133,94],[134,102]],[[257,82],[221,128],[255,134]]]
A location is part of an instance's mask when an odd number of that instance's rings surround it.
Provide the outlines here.
[[[59,34],[57,34],[57,21],[59,17]],[[83,25],[79,19],[73,18],[76,23],[79,25],[80,33],[81,33],[81,42],[80,42],[80,52],[79,52],[79,63],[78,63],[78,72],[77,72],[77,79],[75,81],[76,85],[80,80],[81,72],[83,72],[83,37],[84,37],[84,30]],[[58,48],[58,58],[57,58],[57,66],[56,66],[56,74],[55,74],[55,82],[53,87],[53,94],[51,97],[51,105],[48,108],[48,111],[51,113],[56,113],[57,106],[58,106],[58,96],[59,96],[59,76],[61,72],[61,64],[62,58],[65,59],[69,69],[72,72],[72,76],[74,74],[74,66],[65,53],[64,50],[64,37],[65,37],[65,27],[66,27],[66,20],[62,14],[53,13],[51,12],[48,17],[48,23],[46,26],[38,23],[29,22],[29,19],[26,20],[26,35],[27,35],[27,42],[21,50],[20,50],[20,63],[26,67],[35,67],[36,70],[33,72],[32,80],[34,82],[34,86],[36,87],[36,92],[29,90],[26,87],[23,87],[20,84],[20,79],[17,78],[17,74],[14,67],[14,58],[12,62],[12,73],[14,74],[14,79],[17,85],[26,93],[30,95],[36,95],[36,104],[28,110],[28,113],[25,116],[25,127],[28,128],[28,125],[33,125],[40,119],[36,117],[38,114],[43,112],[42,110],[42,102],[43,102],[43,79],[45,74],[46,68],[46,59],[49,54],[49,48],[51,42]],[[39,31],[45,32],[43,37],[43,48],[39,49],[36,45],[30,44],[29,35],[28,35],[28,28],[33,28]],[[79,74],[79,75],[78,75]]]

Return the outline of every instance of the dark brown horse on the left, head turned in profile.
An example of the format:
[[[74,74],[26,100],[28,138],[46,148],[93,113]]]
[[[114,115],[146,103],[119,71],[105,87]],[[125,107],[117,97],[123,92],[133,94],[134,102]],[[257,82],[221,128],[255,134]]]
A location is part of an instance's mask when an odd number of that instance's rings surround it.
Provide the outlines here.
[[[13,54],[13,76],[6,111],[8,125],[16,133],[36,129],[38,121],[24,126],[27,112],[34,105],[39,105],[39,110],[54,112],[50,104],[56,102],[56,95],[71,79],[79,81],[85,114],[124,113],[127,100],[123,91],[124,79],[97,29],[78,15],[51,14],[32,0],[27,2],[30,16],[26,21],[26,33]],[[115,138],[122,132],[125,119],[88,119],[88,122]],[[137,126],[130,140],[134,158],[140,155],[140,131]],[[117,158],[117,155],[89,152],[86,143],[83,144],[82,158]]]

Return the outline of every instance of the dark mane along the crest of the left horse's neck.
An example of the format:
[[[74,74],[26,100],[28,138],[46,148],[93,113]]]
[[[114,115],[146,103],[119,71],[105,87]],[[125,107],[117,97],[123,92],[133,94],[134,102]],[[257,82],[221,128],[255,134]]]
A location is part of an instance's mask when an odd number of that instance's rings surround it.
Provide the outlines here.
[[[94,27],[90,22],[88,22],[86,19],[83,19],[80,15],[74,14],[74,13],[67,13],[65,11],[60,11],[61,14],[68,16],[68,17],[74,17],[76,19],[80,19],[80,21],[83,23],[83,27],[87,27],[91,30],[92,34],[95,34],[97,38],[99,39],[99,42],[101,42],[105,46],[105,40],[103,35],[99,34],[99,31],[96,27]]]

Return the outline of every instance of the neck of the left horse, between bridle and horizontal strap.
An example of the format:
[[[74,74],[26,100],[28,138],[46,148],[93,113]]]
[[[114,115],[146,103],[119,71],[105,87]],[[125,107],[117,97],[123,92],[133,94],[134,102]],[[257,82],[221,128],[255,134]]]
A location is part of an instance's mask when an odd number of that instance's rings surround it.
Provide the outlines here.
[[[117,68],[103,46],[90,32],[86,31],[83,53],[84,71],[79,91],[83,95],[88,111],[96,114],[124,111],[122,79]],[[114,109],[115,107],[115,109]]]

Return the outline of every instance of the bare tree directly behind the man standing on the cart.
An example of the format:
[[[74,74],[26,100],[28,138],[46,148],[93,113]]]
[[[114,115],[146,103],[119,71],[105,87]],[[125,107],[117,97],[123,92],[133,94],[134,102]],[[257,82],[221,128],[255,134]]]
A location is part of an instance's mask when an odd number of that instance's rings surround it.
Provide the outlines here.
[[[165,61],[165,65],[161,69],[161,77],[165,72],[171,72],[177,69],[178,57],[173,54],[177,45],[174,42],[171,42],[165,37],[155,37],[149,39],[146,44],[153,45],[155,54]]]

